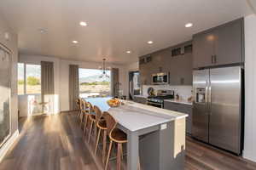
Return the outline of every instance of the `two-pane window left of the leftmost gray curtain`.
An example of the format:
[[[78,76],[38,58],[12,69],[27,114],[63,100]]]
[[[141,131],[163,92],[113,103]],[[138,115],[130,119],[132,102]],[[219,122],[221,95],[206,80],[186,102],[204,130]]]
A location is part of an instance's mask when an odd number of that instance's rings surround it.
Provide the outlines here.
[[[41,94],[41,65],[18,63],[18,94]]]

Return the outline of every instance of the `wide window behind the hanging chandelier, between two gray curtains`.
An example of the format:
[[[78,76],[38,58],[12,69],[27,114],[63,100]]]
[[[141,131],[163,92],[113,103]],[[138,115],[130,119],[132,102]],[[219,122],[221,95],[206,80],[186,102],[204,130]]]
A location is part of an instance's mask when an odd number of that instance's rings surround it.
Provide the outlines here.
[[[111,74],[101,77],[102,70],[79,69],[79,94],[82,98],[107,97],[111,95]]]

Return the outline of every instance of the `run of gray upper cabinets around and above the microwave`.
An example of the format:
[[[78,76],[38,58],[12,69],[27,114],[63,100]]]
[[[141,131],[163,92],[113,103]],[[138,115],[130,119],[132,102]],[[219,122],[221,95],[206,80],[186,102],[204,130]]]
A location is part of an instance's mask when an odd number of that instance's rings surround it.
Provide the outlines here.
[[[149,62],[140,62],[139,70],[143,84],[152,83],[152,74],[165,72],[170,75],[171,85],[191,85],[193,70],[191,43],[191,41],[184,42],[172,48],[162,49],[150,54],[152,58]],[[147,55],[140,57],[139,60],[145,57]]]

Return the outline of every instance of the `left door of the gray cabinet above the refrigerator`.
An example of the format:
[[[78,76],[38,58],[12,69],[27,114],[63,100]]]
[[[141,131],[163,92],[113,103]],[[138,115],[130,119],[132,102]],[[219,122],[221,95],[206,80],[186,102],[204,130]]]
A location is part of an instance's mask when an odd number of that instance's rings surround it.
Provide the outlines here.
[[[212,65],[214,54],[214,32],[208,31],[193,37],[193,68]]]

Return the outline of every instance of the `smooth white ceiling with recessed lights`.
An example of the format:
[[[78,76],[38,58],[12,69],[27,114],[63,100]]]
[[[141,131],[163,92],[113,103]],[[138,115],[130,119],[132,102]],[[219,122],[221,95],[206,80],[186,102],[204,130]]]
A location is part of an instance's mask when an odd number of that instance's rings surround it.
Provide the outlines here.
[[[21,54],[129,64],[253,13],[247,1],[1,0],[0,11],[18,33]],[[79,26],[81,20],[89,26]],[[194,26],[185,28],[188,22]],[[41,33],[41,28],[47,31]]]

